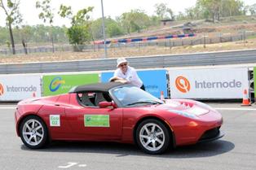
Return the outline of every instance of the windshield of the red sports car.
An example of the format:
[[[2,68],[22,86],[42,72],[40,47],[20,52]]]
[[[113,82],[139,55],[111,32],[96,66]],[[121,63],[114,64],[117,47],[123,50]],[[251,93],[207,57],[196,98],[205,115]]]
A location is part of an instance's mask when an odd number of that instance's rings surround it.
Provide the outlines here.
[[[121,102],[122,106],[148,105],[148,104],[162,104],[163,102],[158,98],[148,94],[135,86],[123,86],[113,89],[113,95]]]

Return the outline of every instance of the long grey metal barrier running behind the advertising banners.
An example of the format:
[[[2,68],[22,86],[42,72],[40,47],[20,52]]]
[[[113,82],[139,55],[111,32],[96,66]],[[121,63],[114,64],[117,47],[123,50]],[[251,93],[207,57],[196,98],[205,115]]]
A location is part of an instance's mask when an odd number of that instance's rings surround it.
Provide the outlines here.
[[[235,63],[256,63],[256,50],[237,50],[200,54],[156,55],[127,58],[135,68],[171,68]],[[51,63],[0,64],[0,74],[42,72],[84,72],[116,69],[116,59],[79,60]]]

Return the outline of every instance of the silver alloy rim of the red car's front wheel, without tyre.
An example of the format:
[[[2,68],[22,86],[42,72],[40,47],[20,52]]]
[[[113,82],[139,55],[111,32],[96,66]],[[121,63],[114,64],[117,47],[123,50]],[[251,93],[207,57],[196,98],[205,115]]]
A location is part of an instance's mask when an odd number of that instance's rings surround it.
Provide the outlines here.
[[[165,144],[165,134],[157,124],[144,124],[139,131],[139,141],[145,149],[157,151]]]

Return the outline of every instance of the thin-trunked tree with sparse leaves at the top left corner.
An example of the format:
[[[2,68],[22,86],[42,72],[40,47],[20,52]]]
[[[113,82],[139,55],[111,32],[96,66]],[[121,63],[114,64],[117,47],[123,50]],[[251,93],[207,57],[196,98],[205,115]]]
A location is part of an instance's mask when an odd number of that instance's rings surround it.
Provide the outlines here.
[[[22,22],[22,17],[20,15],[20,0],[7,0],[6,3],[3,0],[0,0],[0,8],[4,11],[7,22],[7,27],[9,28],[10,38],[11,38],[11,47],[12,54],[15,54],[15,43],[12,33],[12,25],[20,24]]]

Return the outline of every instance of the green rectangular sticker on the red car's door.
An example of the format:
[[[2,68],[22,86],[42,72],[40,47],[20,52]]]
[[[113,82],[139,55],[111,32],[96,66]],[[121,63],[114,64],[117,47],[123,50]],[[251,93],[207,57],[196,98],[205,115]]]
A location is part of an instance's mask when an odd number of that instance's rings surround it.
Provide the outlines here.
[[[109,127],[109,115],[85,115],[85,127]]]

